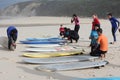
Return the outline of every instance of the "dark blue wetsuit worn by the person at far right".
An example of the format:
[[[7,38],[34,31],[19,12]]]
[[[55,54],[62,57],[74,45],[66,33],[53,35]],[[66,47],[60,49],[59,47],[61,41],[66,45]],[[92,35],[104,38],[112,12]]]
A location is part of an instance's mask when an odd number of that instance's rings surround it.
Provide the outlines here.
[[[115,33],[116,33],[116,31],[117,31],[117,29],[119,27],[119,23],[120,22],[116,18],[114,18],[114,17],[110,18],[109,20],[110,20],[111,25],[112,25],[112,35],[113,35],[113,39],[114,39],[114,42],[115,42],[116,41]]]

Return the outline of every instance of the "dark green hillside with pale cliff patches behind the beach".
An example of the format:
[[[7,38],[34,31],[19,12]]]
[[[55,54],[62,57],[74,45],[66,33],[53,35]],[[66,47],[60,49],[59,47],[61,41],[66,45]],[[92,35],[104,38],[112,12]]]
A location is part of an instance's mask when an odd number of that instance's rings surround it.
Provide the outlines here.
[[[16,5],[17,8],[15,8]],[[21,12],[22,15],[34,12],[33,16],[71,16],[76,13],[81,17],[91,17],[93,13],[96,13],[99,17],[105,18],[108,12],[112,12],[116,17],[120,17],[119,6],[120,0],[34,0],[15,4],[12,8],[5,8],[3,14],[12,15],[15,13],[12,11],[17,9],[16,15],[21,15]]]

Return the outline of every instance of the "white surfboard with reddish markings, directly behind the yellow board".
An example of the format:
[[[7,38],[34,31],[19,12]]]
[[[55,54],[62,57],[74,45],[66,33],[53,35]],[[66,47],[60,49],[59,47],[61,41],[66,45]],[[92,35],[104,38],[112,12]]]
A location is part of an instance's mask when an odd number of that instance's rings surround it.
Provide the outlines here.
[[[70,51],[73,50],[73,47],[64,46],[64,47],[53,47],[53,48],[26,48],[25,51],[29,52],[56,52],[56,51]]]

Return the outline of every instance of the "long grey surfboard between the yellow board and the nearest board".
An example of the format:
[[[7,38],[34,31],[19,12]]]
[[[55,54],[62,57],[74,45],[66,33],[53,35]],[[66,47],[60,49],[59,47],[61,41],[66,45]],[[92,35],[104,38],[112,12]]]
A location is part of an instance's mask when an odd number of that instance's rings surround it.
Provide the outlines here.
[[[50,64],[50,63],[87,61],[96,58],[98,57],[74,55],[74,56],[64,56],[64,57],[54,57],[54,58],[25,58],[23,59],[23,62],[31,63],[31,64],[48,64],[48,63]]]

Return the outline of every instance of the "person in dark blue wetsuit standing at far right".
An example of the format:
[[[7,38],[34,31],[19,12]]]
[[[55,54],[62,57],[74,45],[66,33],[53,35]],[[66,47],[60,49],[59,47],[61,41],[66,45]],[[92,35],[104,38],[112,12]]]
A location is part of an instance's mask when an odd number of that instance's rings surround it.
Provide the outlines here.
[[[111,44],[114,44],[116,42],[116,35],[115,35],[115,33],[116,33],[116,31],[117,31],[117,29],[119,27],[120,22],[116,18],[114,18],[112,16],[112,13],[108,13],[107,15],[108,15],[108,19],[110,20],[111,25],[112,25],[113,42],[111,42]]]

